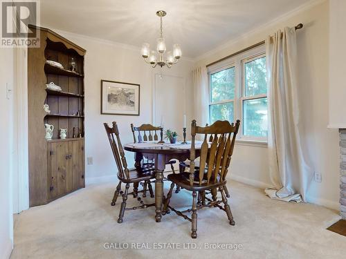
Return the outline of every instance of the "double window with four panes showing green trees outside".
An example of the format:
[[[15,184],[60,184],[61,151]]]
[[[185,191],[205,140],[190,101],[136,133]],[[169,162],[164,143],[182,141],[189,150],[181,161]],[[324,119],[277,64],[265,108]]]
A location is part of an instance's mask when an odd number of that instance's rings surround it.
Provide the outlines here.
[[[242,120],[239,137],[266,141],[268,107],[266,56],[263,48],[250,50],[209,68],[210,124]]]

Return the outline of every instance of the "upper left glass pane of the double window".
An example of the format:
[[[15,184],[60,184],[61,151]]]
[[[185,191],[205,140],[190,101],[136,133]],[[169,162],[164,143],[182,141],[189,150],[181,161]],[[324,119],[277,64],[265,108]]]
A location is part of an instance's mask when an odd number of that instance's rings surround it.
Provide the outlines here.
[[[235,97],[235,68],[228,68],[210,76],[211,102]]]

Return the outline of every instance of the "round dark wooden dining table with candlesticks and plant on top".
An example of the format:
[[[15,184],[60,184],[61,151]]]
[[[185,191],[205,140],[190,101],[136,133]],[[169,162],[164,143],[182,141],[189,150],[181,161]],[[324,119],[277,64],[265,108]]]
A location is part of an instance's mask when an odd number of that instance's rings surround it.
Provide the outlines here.
[[[200,146],[196,146],[196,157],[199,156]],[[124,146],[126,151],[134,152],[135,164],[140,167],[140,162],[143,160],[143,154],[152,154],[154,157],[156,181],[155,181],[155,220],[161,222],[162,205],[163,205],[163,171],[165,171],[166,163],[170,160],[179,160],[183,162],[190,158],[191,144],[158,144],[155,142],[128,143]]]

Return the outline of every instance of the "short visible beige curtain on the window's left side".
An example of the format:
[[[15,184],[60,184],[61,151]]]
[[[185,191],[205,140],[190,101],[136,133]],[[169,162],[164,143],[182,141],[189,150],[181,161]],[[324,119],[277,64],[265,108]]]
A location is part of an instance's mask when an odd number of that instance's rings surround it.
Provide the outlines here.
[[[194,117],[198,125],[209,123],[209,92],[208,73],[206,66],[199,66],[192,70],[192,84],[194,87]]]

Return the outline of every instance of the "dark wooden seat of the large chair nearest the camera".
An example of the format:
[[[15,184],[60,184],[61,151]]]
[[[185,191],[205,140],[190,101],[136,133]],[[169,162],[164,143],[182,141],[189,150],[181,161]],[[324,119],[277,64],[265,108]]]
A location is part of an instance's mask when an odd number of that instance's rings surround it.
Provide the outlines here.
[[[217,180],[216,183],[214,183],[214,180],[210,179],[209,184],[207,183],[207,180],[203,178],[202,184],[199,185],[199,178],[197,176],[198,172],[195,172],[194,176],[194,183],[191,186],[190,185],[190,173],[172,173],[170,175],[167,175],[167,179],[170,180],[171,182],[174,182],[174,184],[181,186],[183,189],[189,190],[189,191],[205,191],[208,189],[213,189],[217,188],[219,186],[222,186],[226,184],[226,180],[223,182],[219,182],[219,179]]]

